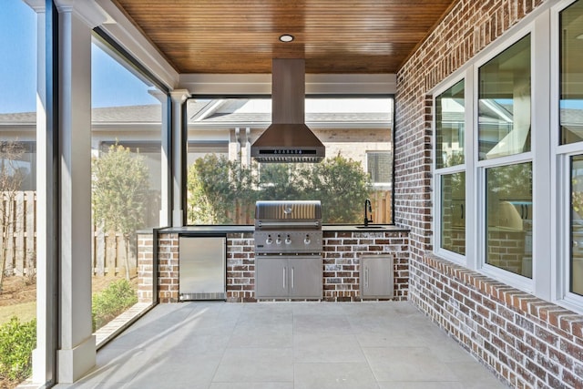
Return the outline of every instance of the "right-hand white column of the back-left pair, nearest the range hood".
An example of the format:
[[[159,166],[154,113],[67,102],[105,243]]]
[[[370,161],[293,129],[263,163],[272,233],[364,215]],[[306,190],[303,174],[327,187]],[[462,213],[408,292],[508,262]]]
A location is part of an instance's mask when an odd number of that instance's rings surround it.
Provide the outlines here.
[[[177,89],[170,93],[172,97],[172,226],[182,227],[182,185],[186,185],[186,177],[182,177],[182,147],[188,139],[182,135],[182,104],[190,96],[186,89]],[[188,128],[187,123],[184,124]],[[186,156],[184,156],[186,158]]]

